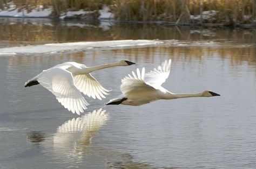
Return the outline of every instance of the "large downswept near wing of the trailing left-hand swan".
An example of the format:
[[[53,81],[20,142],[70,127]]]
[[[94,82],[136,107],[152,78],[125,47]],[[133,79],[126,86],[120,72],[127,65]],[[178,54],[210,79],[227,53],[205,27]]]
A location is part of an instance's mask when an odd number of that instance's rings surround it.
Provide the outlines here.
[[[38,75],[37,81],[51,91],[66,109],[73,113],[84,112],[89,105],[74,84],[72,74],[65,69],[53,67]]]

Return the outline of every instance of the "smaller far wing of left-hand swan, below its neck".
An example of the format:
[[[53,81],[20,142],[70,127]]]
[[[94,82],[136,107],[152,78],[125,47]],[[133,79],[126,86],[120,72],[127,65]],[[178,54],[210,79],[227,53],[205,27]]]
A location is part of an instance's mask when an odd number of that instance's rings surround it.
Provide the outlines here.
[[[105,98],[104,95],[107,95],[108,91],[105,89],[100,83],[93,78],[93,76],[89,74],[83,74],[83,75],[76,75],[74,77],[75,85],[76,87],[83,92],[83,94],[92,97],[92,98],[98,98],[99,100],[102,100],[102,98]]]

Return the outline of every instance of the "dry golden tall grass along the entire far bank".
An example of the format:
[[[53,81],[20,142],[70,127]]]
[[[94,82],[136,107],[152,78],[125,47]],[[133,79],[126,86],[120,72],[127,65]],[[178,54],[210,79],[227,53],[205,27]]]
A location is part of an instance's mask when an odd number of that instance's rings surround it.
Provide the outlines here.
[[[0,0],[0,8],[8,7],[10,2],[27,10],[39,5],[52,6],[55,17],[69,10],[95,11],[107,5],[117,20],[128,22],[163,20],[176,24],[227,25],[256,22],[256,0]]]

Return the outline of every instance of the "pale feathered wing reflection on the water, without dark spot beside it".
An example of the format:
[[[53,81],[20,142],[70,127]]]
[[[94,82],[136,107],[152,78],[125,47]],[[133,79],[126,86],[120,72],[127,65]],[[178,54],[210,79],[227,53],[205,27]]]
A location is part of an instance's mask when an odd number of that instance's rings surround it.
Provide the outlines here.
[[[81,117],[72,118],[58,126],[53,136],[53,151],[63,153],[66,149],[78,153],[89,148],[91,139],[109,119],[106,110],[98,109]]]

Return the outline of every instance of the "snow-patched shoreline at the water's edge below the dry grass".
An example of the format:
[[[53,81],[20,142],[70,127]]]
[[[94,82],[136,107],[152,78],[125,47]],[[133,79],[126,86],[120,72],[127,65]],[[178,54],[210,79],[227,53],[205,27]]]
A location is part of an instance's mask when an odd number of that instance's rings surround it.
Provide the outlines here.
[[[127,20],[122,19],[118,15],[115,16],[114,13],[110,11],[109,6],[102,6],[102,9],[86,11],[80,10],[67,10],[60,13],[58,16],[53,15],[53,7],[48,8],[32,8],[28,9],[18,9],[11,6],[8,9],[0,9],[0,18],[48,18],[54,20],[80,20],[83,22],[107,22],[107,23],[126,23],[126,24],[157,24],[157,25],[173,25],[173,26],[208,26],[208,27],[255,27],[256,19],[244,20],[244,23],[235,22],[231,15],[223,16],[221,20],[215,20],[218,11],[208,10],[202,11],[201,15],[191,15],[189,12],[185,17],[181,14],[178,19],[174,21],[168,21],[166,17],[159,19],[147,19],[147,20]],[[184,18],[185,17],[185,18]],[[228,17],[228,18],[227,18]],[[250,18],[250,16],[244,15],[245,18]],[[185,19],[185,20],[184,20]]]

